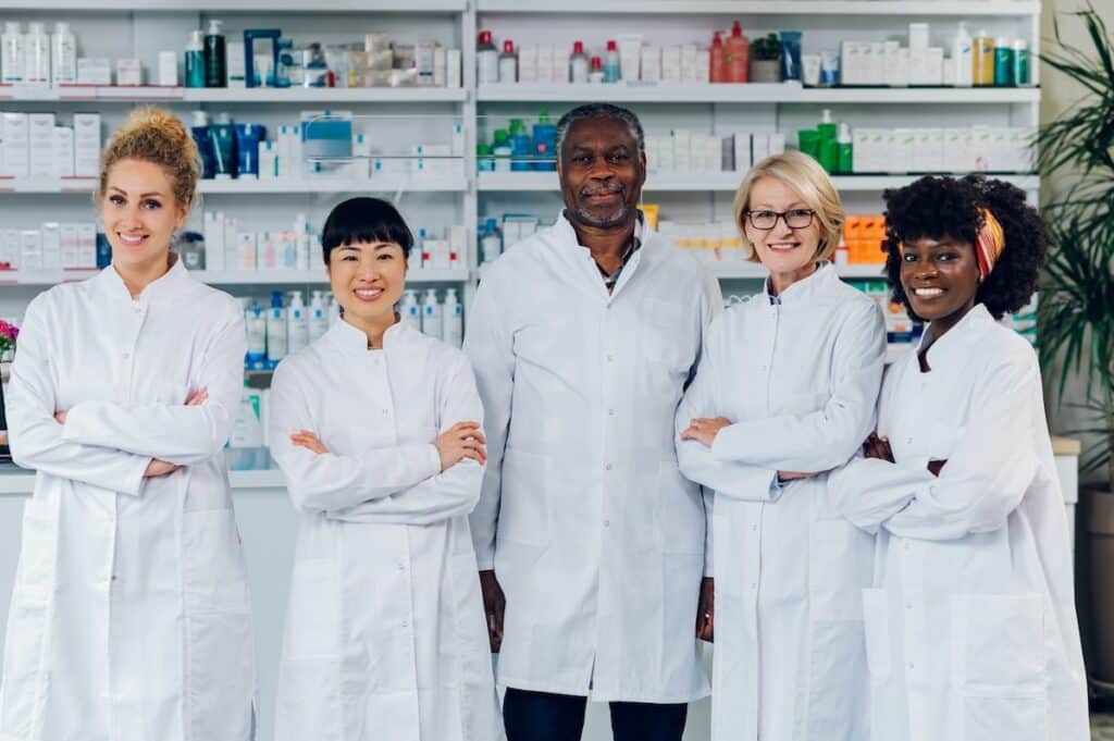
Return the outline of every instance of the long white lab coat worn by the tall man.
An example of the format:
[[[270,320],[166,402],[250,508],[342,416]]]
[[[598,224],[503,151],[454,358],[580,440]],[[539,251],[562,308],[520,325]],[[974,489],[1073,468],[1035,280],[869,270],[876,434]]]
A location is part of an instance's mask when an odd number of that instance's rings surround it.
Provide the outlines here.
[[[673,416],[721,299],[692,257],[639,230],[612,294],[561,216],[491,264],[472,306],[489,460],[471,525],[507,597],[504,686],[707,694],[704,505],[677,471]]]

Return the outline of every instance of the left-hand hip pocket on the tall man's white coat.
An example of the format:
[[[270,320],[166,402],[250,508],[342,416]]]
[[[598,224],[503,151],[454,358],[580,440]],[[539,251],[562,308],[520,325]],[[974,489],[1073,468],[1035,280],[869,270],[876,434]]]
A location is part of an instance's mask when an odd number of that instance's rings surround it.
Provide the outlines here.
[[[507,448],[502,460],[497,540],[532,546],[549,543],[549,497],[555,471],[546,456]]]

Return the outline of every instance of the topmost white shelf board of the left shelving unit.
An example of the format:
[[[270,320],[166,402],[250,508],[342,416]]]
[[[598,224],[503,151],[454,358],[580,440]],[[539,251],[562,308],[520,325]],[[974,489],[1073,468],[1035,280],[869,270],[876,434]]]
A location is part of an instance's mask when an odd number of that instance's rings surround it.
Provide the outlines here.
[[[467,0],[147,0],[141,9],[128,0],[52,0],[49,12],[62,10],[86,11],[121,11],[121,12],[159,12],[159,11],[193,11],[241,13],[241,12],[275,12],[275,13],[452,13],[463,12],[468,8]],[[38,10],[42,3],[36,0],[0,0],[0,10]]]

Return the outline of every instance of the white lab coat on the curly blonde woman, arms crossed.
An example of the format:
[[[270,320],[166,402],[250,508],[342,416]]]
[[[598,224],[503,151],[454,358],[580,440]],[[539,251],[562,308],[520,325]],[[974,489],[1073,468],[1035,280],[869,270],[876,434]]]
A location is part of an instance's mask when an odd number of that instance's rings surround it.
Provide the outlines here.
[[[31,302],[9,390],[12,456],[37,475],[3,741],[252,737],[251,604],[222,451],[244,351],[240,304],[180,260],[136,300],[106,267]],[[186,407],[203,388],[208,401]],[[183,468],[145,479],[153,457]]]

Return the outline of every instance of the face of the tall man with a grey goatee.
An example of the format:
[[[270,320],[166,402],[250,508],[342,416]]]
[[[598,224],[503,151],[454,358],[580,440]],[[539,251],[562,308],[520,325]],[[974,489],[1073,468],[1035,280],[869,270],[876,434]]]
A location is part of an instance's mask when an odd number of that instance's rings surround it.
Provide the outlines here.
[[[646,182],[646,156],[631,127],[613,118],[569,126],[557,164],[569,218],[595,228],[625,227]]]

